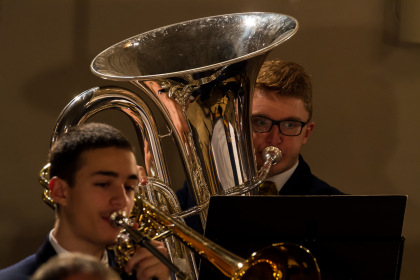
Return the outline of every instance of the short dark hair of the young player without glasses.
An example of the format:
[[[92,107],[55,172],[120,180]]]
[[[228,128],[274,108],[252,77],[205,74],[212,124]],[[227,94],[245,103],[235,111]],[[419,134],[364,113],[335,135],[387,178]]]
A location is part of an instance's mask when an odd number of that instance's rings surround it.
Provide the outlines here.
[[[126,149],[134,153],[132,144],[115,127],[102,123],[86,123],[71,127],[50,149],[50,178],[57,176],[73,186],[75,174],[83,164],[80,155],[87,150],[109,147]]]

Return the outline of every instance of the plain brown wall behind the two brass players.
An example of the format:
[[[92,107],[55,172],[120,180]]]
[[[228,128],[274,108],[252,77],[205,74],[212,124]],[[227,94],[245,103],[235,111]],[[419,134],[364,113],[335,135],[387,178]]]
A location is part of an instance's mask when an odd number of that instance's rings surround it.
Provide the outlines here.
[[[305,158],[344,192],[408,195],[401,279],[419,279],[420,44],[401,39],[411,27],[399,12],[409,2],[0,0],[0,267],[33,252],[53,226],[38,172],[63,107],[111,83],[90,73],[96,54],[167,24],[269,11],[300,25],[270,56],[312,75],[316,129]]]

